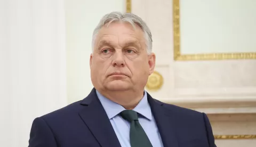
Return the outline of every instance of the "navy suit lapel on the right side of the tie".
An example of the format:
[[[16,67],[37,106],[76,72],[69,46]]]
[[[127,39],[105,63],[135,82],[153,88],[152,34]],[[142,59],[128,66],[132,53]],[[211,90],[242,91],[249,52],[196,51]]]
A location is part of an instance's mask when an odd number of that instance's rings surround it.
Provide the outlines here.
[[[163,145],[166,147],[178,147],[178,138],[175,134],[175,118],[170,115],[171,110],[166,110],[163,107],[164,103],[153,99],[149,94],[147,96]]]

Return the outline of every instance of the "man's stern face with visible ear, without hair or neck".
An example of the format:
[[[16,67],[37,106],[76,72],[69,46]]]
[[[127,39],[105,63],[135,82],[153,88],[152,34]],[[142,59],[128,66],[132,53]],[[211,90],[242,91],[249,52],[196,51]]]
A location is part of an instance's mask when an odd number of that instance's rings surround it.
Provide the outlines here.
[[[102,27],[90,56],[91,79],[96,89],[144,89],[155,68],[155,54],[148,55],[144,32],[130,23],[112,22]]]

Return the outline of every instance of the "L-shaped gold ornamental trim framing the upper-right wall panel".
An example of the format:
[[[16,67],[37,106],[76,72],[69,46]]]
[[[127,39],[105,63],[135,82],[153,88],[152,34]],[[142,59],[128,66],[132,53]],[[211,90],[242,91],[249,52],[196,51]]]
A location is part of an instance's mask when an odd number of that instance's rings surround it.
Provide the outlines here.
[[[211,54],[181,54],[180,53],[180,1],[173,0],[173,37],[174,60],[228,60],[256,59],[256,53],[211,53]]]

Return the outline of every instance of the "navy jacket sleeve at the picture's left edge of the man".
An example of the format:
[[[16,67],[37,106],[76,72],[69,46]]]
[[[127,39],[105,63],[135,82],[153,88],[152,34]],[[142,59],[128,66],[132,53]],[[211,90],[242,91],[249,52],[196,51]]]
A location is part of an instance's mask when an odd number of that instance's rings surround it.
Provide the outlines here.
[[[43,118],[36,118],[33,121],[28,147],[57,147],[54,135]]]

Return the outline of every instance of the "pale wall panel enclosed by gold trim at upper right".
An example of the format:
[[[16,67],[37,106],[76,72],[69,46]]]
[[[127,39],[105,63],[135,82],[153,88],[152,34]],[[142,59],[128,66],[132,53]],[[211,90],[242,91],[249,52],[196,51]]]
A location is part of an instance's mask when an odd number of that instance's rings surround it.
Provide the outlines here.
[[[256,52],[255,7],[255,0],[180,1],[181,54]]]

